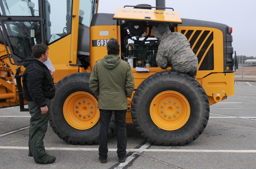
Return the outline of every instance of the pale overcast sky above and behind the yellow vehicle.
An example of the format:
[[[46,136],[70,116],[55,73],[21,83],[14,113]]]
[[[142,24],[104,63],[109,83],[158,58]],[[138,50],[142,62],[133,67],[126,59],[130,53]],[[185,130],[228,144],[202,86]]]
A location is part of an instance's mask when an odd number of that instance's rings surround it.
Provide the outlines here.
[[[232,46],[237,55],[256,57],[256,12],[255,3],[249,0],[166,0],[180,18],[198,19],[226,24],[233,28]],[[99,13],[115,13],[124,5],[149,4],[155,0],[99,0]],[[234,54],[233,54],[234,56]]]

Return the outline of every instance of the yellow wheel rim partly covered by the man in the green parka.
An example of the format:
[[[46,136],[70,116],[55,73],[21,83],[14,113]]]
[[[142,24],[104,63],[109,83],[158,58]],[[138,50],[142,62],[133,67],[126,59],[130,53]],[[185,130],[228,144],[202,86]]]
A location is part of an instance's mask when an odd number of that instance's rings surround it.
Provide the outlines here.
[[[78,130],[93,127],[100,118],[97,100],[87,92],[75,92],[63,105],[63,115],[70,126]]]

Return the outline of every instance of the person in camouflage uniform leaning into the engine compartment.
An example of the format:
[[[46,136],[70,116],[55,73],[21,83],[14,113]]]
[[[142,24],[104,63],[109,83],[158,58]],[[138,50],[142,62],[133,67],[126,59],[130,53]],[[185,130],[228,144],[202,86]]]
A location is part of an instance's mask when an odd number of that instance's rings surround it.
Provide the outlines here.
[[[173,71],[195,78],[198,60],[186,36],[179,32],[171,32],[166,23],[160,23],[158,29],[162,35],[159,38],[160,44],[156,55],[158,66],[162,69],[172,66]]]

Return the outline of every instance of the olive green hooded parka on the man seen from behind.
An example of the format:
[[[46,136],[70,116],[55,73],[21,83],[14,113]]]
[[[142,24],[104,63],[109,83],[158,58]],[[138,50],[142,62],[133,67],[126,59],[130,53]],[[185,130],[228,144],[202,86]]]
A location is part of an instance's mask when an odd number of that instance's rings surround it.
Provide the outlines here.
[[[99,109],[125,110],[127,97],[134,91],[134,77],[131,66],[119,55],[106,55],[93,66],[90,89],[99,95]]]

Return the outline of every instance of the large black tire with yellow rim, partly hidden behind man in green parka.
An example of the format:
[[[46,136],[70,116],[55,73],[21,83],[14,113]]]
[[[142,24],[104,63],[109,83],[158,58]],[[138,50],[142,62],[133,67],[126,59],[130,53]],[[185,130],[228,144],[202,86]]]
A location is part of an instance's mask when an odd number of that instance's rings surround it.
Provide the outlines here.
[[[90,73],[74,73],[61,79],[51,100],[49,123],[59,138],[70,144],[98,143],[99,109],[89,88]],[[112,115],[108,136],[115,127]]]

